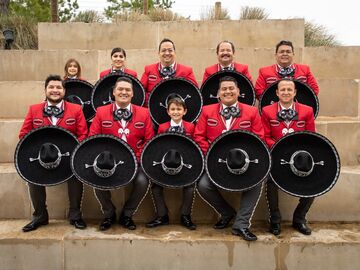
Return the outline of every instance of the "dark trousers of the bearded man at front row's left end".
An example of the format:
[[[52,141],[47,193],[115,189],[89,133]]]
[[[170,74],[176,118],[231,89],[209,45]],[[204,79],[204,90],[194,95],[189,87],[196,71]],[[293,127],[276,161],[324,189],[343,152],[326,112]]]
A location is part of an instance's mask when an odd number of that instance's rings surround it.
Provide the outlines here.
[[[83,196],[83,183],[75,177],[67,181],[68,197],[69,197],[69,216],[70,220],[77,220],[82,218],[81,201]],[[28,183],[29,193],[32,205],[34,207],[33,219],[45,220],[48,219],[48,212],[46,209],[46,189],[44,186],[38,186]]]

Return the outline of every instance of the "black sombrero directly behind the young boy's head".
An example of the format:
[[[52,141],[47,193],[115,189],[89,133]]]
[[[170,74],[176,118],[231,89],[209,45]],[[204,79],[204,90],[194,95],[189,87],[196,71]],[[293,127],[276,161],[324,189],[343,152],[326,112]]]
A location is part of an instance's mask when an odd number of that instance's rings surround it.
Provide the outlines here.
[[[197,86],[183,78],[165,79],[159,82],[149,96],[149,111],[153,121],[160,125],[170,121],[167,114],[167,102],[171,97],[180,97],[185,101],[187,113],[184,120],[194,122],[200,115],[202,97]]]

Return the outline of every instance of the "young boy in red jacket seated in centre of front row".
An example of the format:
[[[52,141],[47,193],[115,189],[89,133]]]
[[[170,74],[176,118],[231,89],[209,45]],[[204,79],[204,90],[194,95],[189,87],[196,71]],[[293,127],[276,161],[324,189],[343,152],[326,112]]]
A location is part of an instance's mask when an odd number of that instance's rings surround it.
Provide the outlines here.
[[[167,113],[171,120],[159,126],[158,134],[164,132],[179,132],[192,138],[194,133],[194,124],[184,121],[182,118],[187,112],[186,104],[180,97],[173,97],[167,105]],[[151,191],[153,194],[157,217],[146,224],[148,228],[154,228],[160,225],[169,224],[168,209],[164,201],[163,187],[155,183],[152,184]],[[191,221],[191,208],[194,198],[195,185],[183,188],[183,202],[181,205],[181,225],[189,230],[195,230],[196,225]]]

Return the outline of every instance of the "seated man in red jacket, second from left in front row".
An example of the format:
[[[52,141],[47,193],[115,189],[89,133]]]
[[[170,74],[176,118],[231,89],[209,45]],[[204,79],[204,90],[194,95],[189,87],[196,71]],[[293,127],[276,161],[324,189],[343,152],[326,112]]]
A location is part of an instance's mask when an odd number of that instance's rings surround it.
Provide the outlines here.
[[[97,109],[90,126],[89,136],[111,134],[119,137],[130,145],[139,159],[144,145],[154,136],[150,113],[146,108],[131,104],[134,96],[133,84],[127,77],[120,77],[116,81],[113,95],[115,96],[114,103]],[[119,219],[119,223],[130,230],[136,229],[132,216],[149,188],[149,181],[140,166],[133,185],[133,190],[125,202]],[[109,190],[95,189],[95,195],[104,213],[100,230],[107,230],[116,221],[116,209],[111,201],[111,193]]]

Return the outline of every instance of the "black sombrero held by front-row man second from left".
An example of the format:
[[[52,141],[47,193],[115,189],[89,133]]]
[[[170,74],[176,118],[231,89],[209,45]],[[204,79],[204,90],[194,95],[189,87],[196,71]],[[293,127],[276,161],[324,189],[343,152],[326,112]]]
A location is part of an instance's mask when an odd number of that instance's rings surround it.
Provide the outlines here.
[[[71,169],[81,182],[103,190],[130,183],[137,173],[134,151],[112,135],[95,135],[82,141],[71,156]]]

